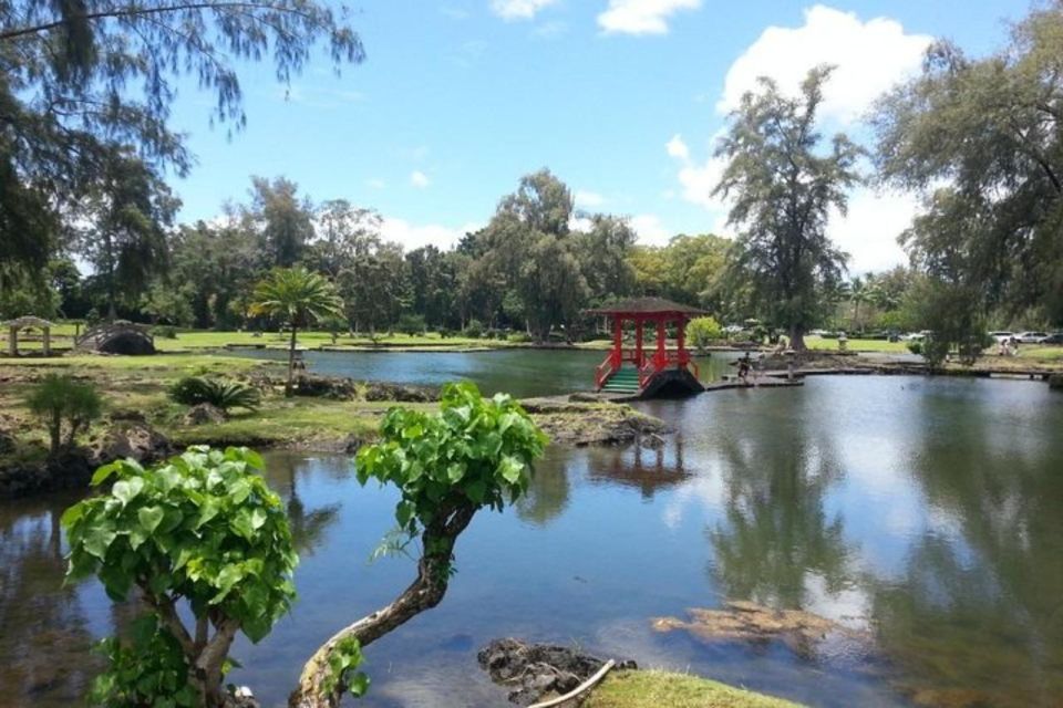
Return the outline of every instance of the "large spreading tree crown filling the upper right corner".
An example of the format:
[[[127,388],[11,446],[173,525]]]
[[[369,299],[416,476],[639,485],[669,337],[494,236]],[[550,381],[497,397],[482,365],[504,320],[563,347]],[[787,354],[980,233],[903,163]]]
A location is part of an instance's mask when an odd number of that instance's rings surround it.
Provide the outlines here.
[[[914,264],[980,312],[1036,308],[1063,323],[1061,45],[1056,0],[985,59],[938,42],[876,107],[880,178],[925,197],[902,237]]]

